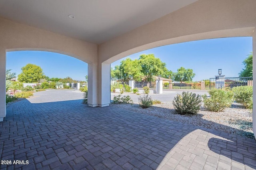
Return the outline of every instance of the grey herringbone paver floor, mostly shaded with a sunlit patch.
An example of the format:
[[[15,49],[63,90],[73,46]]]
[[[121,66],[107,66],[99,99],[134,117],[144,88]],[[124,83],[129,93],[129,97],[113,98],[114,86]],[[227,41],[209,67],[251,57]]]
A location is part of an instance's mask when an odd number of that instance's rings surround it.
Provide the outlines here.
[[[0,123],[0,169],[255,169],[256,141],[82,100],[16,102]]]

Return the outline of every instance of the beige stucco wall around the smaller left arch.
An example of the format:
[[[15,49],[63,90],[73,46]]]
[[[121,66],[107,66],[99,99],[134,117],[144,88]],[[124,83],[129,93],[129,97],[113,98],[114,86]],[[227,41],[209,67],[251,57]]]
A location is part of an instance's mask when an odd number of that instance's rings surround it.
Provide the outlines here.
[[[0,18],[0,119],[5,117],[5,70],[6,52],[19,50],[40,50],[66,54],[80,59],[88,65],[98,64],[98,45],[66,37],[38,29],[11,20]],[[92,72],[88,72],[88,75]],[[97,69],[94,72],[93,80],[94,91],[97,93]],[[96,85],[96,86],[95,86]],[[92,88],[92,86],[88,87]],[[92,90],[91,90],[92,91]],[[98,104],[98,96],[94,94],[91,102]],[[1,121],[1,120],[0,120]]]

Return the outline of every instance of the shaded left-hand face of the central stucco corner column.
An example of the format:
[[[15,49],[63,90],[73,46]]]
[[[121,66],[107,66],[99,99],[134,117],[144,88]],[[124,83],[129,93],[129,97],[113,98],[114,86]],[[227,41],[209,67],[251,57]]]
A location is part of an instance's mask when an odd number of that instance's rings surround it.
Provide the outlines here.
[[[98,64],[88,63],[88,106],[98,106]]]

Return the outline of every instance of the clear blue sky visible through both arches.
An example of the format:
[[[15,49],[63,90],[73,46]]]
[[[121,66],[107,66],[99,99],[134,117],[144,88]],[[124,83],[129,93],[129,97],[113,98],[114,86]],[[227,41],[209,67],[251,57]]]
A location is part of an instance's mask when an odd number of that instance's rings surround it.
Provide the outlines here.
[[[232,37],[166,45],[128,57],[138,59],[140,54],[154,54],[166,63],[168,70],[173,72],[181,66],[193,69],[196,73],[193,80],[197,81],[213,78],[220,68],[222,75],[237,77],[240,70],[244,68],[242,62],[250,52],[252,52],[252,37]],[[112,63],[111,66],[119,65],[123,59]],[[6,69],[12,69],[16,75],[20,74],[20,68],[28,63],[40,66],[45,75],[50,78],[70,76],[74,80],[85,80],[84,77],[88,72],[87,63],[67,55],[45,51],[7,53]]]

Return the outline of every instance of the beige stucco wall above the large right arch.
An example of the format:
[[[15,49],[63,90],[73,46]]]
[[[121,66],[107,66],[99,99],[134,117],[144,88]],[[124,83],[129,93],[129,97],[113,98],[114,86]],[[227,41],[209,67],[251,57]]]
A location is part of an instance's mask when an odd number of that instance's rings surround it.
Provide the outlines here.
[[[99,62],[186,41],[252,36],[256,0],[199,0],[99,45]]]

